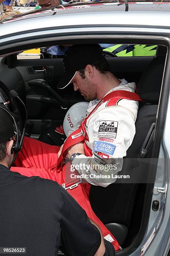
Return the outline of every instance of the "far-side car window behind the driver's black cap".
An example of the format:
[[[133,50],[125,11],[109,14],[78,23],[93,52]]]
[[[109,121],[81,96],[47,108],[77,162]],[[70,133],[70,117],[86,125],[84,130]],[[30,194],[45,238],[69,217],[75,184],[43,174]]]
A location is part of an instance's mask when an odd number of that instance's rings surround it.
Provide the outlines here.
[[[157,45],[146,44],[100,44],[107,57],[155,56]],[[62,58],[67,46],[47,46],[23,51],[17,59]]]

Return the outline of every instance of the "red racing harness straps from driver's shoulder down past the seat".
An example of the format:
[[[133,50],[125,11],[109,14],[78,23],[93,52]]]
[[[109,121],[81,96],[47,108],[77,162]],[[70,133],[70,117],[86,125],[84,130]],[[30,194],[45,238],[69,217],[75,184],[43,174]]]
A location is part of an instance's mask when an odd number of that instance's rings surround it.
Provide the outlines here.
[[[91,208],[90,201],[89,201],[89,192],[90,192],[91,185],[89,183],[82,183],[81,179],[75,179],[75,180],[71,179],[71,181],[69,181],[69,175],[71,174],[70,172],[71,164],[67,162],[63,166],[63,162],[65,161],[65,158],[67,155],[67,149],[70,146],[73,146],[79,142],[83,142],[85,155],[92,156],[92,150],[85,143],[85,141],[88,140],[88,136],[85,130],[85,125],[87,123],[88,118],[90,118],[90,116],[93,113],[95,113],[97,108],[99,108],[100,105],[104,104],[105,102],[107,102],[106,107],[109,107],[109,106],[117,105],[117,102],[121,99],[143,101],[140,99],[139,95],[134,92],[128,92],[124,90],[117,90],[114,92],[110,92],[108,95],[103,97],[102,100],[100,100],[100,102],[95,106],[95,108],[91,111],[91,113],[85,118],[84,122],[81,123],[80,127],[76,131],[71,133],[70,136],[68,136],[68,138],[66,139],[63,145],[60,157],[57,161],[57,172],[62,171],[62,177],[63,177],[63,180],[61,181],[62,187],[67,189],[67,192],[69,192],[69,194],[75,198],[75,200],[85,210],[87,216],[100,226],[103,237],[107,241],[110,241],[110,243],[112,243],[116,251],[120,250],[119,243],[114,238],[112,233],[110,233],[110,231],[105,227],[105,225],[99,220],[99,218],[97,218],[97,216],[95,215],[95,213]]]

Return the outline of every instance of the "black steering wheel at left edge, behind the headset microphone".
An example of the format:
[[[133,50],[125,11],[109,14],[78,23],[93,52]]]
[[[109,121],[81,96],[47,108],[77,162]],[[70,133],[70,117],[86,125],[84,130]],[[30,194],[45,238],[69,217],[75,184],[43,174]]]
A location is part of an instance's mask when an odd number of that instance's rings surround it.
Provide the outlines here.
[[[7,95],[7,99],[10,101],[10,104],[8,105],[10,110],[8,110],[8,111],[11,113],[11,115],[14,116],[14,118],[16,119],[16,122],[18,123],[20,131],[22,131],[23,130],[22,118],[20,115],[20,110],[19,110],[18,104],[15,100],[15,97],[10,95],[10,90],[1,81],[0,81],[0,88],[2,89],[3,92],[5,92],[5,94]]]

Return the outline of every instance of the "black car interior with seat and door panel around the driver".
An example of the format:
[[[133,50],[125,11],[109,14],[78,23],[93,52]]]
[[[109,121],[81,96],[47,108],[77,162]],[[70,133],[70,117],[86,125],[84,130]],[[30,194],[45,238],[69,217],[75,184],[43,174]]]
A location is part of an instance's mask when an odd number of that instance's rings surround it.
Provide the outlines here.
[[[31,49],[30,46],[28,49]],[[64,72],[63,56],[43,58],[41,55],[39,59],[29,59],[26,56],[19,59],[18,54],[19,52],[0,58],[1,95],[5,102],[9,100],[3,90],[3,84],[9,91],[15,90],[28,111],[27,136],[55,145],[55,141],[47,136],[49,128],[60,127],[70,106],[85,100],[78,91],[73,90],[72,84],[63,90],[57,89],[57,82]],[[128,82],[135,82],[143,100],[139,103],[136,134],[124,158],[121,171],[122,174],[130,173],[132,180],[117,180],[106,188],[92,186],[90,189],[93,211],[117,238],[123,249],[135,243],[141,232],[145,231],[146,214],[150,209],[154,173],[146,171],[148,162],[143,162],[143,159],[153,157],[166,55],[167,47],[163,45],[157,46],[155,56],[117,57],[105,53],[113,74],[119,79],[125,78]],[[24,120],[23,107],[17,98],[16,101]],[[62,141],[60,143],[62,144]],[[142,159],[142,166],[146,167],[145,172],[136,172],[138,160],[134,159]],[[153,182],[147,184],[146,179],[143,180],[144,175],[151,175]]]

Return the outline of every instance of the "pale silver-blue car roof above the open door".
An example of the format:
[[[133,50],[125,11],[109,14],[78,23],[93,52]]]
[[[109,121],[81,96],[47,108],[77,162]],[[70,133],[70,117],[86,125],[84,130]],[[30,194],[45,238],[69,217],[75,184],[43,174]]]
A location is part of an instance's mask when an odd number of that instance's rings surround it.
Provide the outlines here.
[[[2,21],[0,23],[0,38],[56,28],[170,27],[170,2],[129,2],[128,10],[125,11],[124,2],[119,4],[115,1],[85,2],[46,10],[39,9]]]

